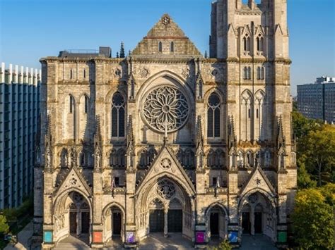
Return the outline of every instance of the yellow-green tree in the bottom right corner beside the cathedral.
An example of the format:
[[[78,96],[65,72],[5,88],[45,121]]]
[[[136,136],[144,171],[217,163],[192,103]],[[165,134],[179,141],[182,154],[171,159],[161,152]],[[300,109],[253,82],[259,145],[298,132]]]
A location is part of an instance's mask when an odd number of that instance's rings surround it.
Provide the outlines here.
[[[295,209],[292,214],[293,228],[295,242],[302,249],[334,248],[333,206],[329,204],[329,201],[331,203],[334,201],[334,197],[329,197],[330,193],[326,187],[303,189],[295,197]],[[330,188],[332,191],[335,189],[333,186]],[[327,189],[330,188],[327,187]]]

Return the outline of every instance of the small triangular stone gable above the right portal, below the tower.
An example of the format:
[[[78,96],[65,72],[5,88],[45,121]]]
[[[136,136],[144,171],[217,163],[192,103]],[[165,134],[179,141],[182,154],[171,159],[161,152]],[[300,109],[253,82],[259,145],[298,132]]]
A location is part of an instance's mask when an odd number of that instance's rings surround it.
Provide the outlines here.
[[[240,191],[240,196],[243,196],[252,189],[262,189],[269,194],[276,194],[276,191],[271,185],[271,182],[268,177],[266,177],[264,171],[260,166],[257,166],[252,170],[252,173],[249,176],[249,180],[245,183]]]

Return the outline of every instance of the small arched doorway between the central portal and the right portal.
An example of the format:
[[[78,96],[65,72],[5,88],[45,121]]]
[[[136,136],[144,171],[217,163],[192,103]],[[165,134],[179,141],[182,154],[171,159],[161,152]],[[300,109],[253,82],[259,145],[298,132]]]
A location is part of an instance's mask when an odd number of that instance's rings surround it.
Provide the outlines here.
[[[208,238],[225,239],[227,236],[227,223],[228,216],[222,206],[218,204],[208,208],[206,212]]]

